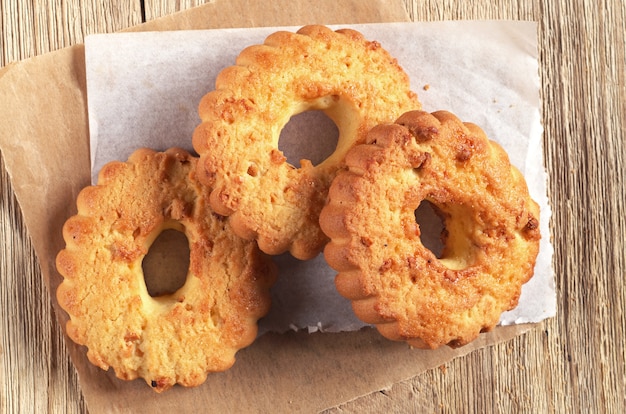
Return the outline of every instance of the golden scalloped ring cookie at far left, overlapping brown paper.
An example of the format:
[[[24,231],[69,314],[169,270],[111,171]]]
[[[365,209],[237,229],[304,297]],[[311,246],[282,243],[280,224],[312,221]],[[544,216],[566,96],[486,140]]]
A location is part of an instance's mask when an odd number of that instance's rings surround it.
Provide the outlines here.
[[[256,245],[210,213],[196,163],[183,150],[141,149],[107,164],[98,185],[80,192],[57,255],[68,336],[87,346],[94,365],[142,377],[157,392],[229,368],[255,339],[275,278]],[[187,236],[189,272],[176,292],[151,297],[142,260],[165,229]]]

